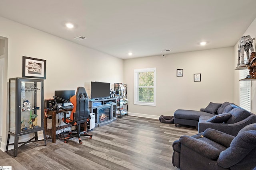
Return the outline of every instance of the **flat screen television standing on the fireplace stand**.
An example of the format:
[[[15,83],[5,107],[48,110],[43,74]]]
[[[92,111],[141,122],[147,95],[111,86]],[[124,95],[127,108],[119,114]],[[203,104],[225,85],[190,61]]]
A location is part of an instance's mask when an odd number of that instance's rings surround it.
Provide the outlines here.
[[[91,99],[110,98],[110,83],[91,82]]]

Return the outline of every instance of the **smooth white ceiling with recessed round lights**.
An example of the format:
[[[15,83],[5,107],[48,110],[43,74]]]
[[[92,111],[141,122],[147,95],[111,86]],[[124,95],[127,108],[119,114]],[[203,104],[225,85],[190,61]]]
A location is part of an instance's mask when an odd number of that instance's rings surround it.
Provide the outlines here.
[[[256,0],[0,0],[0,16],[130,59],[234,46],[255,7]],[[74,39],[80,35],[87,39]]]

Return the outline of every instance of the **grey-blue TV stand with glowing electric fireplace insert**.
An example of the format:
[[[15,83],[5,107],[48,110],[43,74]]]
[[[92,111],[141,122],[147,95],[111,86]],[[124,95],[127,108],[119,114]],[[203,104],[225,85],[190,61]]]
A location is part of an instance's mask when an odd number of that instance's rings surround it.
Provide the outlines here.
[[[116,98],[89,100],[89,109],[95,114],[95,127],[107,125],[116,120]]]

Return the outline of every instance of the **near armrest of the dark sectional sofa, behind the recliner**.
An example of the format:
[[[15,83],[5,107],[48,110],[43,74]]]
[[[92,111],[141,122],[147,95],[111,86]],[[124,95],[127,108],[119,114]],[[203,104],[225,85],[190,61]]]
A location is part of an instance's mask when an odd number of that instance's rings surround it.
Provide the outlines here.
[[[198,133],[205,131],[208,128],[216,129],[218,131],[227,133],[232,136],[236,136],[238,132],[245,127],[246,125],[250,125],[252,123],[256,123],[256,115],[250,115],[246,117],[244,120],[236,122],[236,123],[212,123],[212,122],[198,122]]]

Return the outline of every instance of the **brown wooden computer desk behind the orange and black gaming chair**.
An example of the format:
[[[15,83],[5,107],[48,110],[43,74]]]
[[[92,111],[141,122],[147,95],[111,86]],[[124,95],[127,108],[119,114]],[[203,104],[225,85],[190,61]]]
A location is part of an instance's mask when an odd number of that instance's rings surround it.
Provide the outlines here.
[[[72,109],[67,109],[65,111],[72,111]],[[52,137],[52,143],[56,142],[56,130],[60,130],[63,128],[67,128],[67,127],[71,127],[71,124],[66,124],[60,127],[56,128],[56,114],[57,113],[62,113],[62,111],[57,111],[57,110],[48,110],[47,111],[47,115],[52,115],[52,129],[47,129],[47,117],[44,115],[44,131],[45,131],[45,139],[47,139],[47,135],[49,135],[50,137]],[[65,114],[65,113],[64,113]],[[84,126],[81,125],[81,127],[83,127],[84,129],[86,129],[87,131],[87,126],[86,123],[84,123]]]

